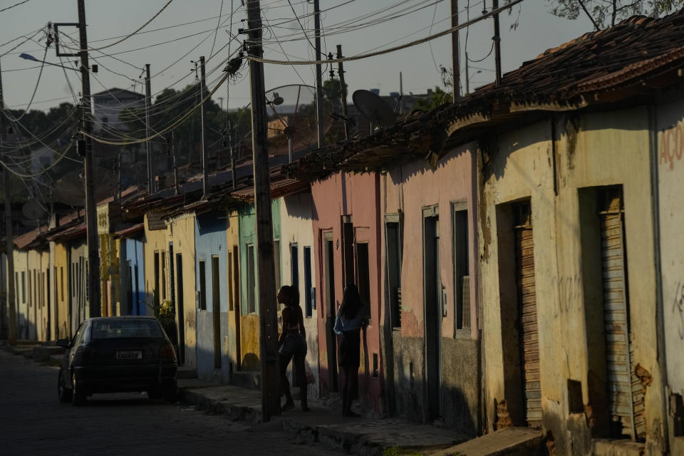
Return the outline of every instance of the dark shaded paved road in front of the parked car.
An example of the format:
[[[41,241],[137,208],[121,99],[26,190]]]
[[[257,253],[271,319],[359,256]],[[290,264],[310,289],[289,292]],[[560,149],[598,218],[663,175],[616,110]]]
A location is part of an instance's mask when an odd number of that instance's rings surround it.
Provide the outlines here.
[[[58,368],[0,349],[0,455],[341,455],[277,423],[246,425],[138,393],[57,400]]]

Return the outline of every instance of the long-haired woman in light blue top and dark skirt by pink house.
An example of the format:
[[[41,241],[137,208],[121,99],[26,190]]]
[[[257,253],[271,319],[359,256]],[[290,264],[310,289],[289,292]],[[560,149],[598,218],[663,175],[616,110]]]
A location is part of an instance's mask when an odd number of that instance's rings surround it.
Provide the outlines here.
[[[361,296],[354,284],[348,284],[342,295],[342,304],[337,311],[335,333],[341,335],[339,365],[344,373],[342,383],[342,415],[354,417],[351,400],[358,388],[358,366],[361,361],[361,328],[368,323],[363,311]]]

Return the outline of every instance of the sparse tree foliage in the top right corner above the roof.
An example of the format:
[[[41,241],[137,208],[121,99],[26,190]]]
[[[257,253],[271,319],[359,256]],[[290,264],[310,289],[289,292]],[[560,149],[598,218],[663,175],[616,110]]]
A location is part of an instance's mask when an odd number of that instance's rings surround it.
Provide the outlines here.
[[[547,0],[554,16],[577,19],[587,16],[596,30],[614,26],[635,15],[659,17],[679,9],[684,0]]]

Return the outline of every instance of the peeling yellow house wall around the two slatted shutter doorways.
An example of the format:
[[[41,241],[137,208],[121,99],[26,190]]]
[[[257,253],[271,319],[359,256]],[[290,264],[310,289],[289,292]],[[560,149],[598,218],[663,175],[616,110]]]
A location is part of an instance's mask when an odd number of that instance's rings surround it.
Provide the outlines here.
[[[499,232],[497,204],[530,198],[534,237],[534,274],[537,296],[541,405],[543,424],[551,430],[559,454],[589,454],[594,420],[590,385],[605,373],[590,368],[596,357],[594,331],[587,330],[589,312],[596,311],[593,290],[583,275],[583,247],[579,190],[623,185],[626,269],[633,335],[634,364],[657,385],[655,332],[655,270],[649,174],[648,115],[646,109],[559,116],[556,144],[551,122],[500,135],[484,168],[480,256],[484,303],[484,359],[487,363],[487,418],[497,419],[495,401],[514,399],[504,381],[509,360],[502,348],[502,302],[499,289]],[[554,167],[555,164],[555,167]],[[583,212],[584,211],[584,212]],[[586,250],[586,249],[585,249]],[[586,267],[586,265],[585,265]],[[601,302],[598,303],[601,305]],[[599,311],[599,318],[602,318]],[[508,322],[505,322],[508,324]],[[591,324],[591,322],[589,322]],[[504,331],[505,332],[505,331]],[[593,353],[593,354],[592,354]],[[586,417],[569,410],[568,380],[581,383]],[[595,396],[594,396],[595,397]],[[658,388],[646,389],[647,454],[658,451],[663,416]],[[513,415],[513,413],[512,413]],[[516,417],[514,421],[516,420]],[[517,418],[520,419],[519,417]]]

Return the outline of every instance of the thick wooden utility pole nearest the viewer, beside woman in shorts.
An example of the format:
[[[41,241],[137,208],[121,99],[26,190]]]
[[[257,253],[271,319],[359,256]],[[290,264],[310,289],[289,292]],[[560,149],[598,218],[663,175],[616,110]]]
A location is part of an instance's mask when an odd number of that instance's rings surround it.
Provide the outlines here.
[[[318,3],[318,2],[316,2]],[[259,0],[247,0],[249,56],[261,58],[261,11]],[[266,89],[264,64],[249,61],[252,95],[252,150],[254,153],[254,207],[257,215],[257,270],[259,287],[259,329],[261,333],[261,417],[269,421],[280,415],[278,370],[278,320],[276,315],[273,220],[271,219],[271,177],[266,147]],[[306,394],[306,391],[304,391]]]

